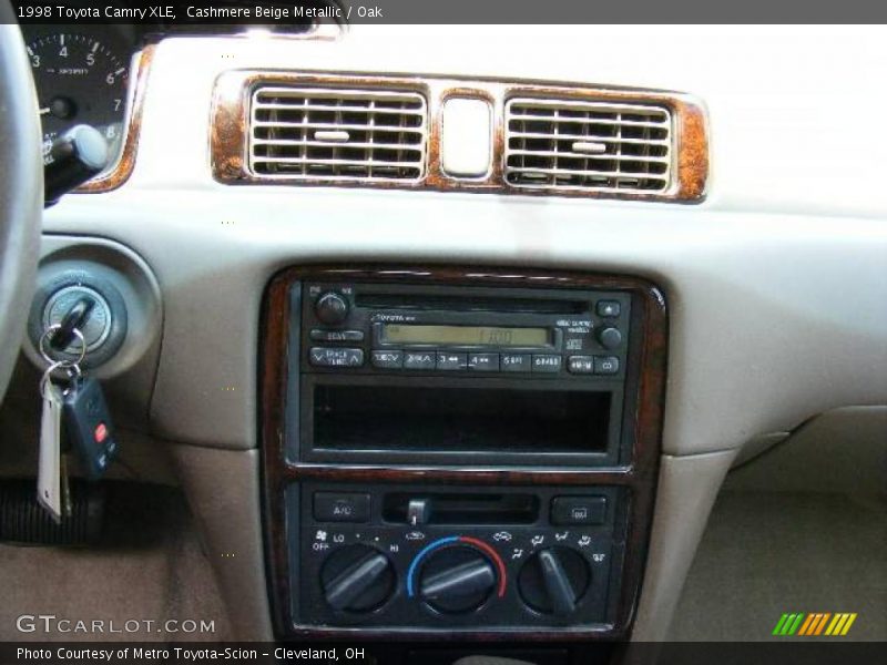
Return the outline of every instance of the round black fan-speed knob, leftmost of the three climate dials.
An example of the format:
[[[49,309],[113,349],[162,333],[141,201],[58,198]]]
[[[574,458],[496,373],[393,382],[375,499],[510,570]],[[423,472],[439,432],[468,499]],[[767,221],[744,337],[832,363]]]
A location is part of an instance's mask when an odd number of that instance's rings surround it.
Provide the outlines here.
[[[391,562],[368,545],[348,545],[336,550],[320,570],[324,596],[335,610],[371,612],[395,591]]]

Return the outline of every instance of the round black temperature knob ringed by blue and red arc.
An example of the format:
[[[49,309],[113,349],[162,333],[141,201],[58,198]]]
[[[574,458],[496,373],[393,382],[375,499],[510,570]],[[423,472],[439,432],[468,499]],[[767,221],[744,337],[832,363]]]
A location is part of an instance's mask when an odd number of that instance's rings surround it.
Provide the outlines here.
[[[419,593],[438,612],[463,614],[480,607],[496,586],[490,560],[471,546],[439,550],[419,577]]]

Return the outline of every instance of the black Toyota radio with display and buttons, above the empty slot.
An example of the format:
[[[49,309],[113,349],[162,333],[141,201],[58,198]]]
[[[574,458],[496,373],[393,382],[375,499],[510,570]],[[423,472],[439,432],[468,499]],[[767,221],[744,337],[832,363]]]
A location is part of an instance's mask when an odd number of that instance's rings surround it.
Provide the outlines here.
[[[630,309],[620,291],[307,284],[302,370],[620,377]]]

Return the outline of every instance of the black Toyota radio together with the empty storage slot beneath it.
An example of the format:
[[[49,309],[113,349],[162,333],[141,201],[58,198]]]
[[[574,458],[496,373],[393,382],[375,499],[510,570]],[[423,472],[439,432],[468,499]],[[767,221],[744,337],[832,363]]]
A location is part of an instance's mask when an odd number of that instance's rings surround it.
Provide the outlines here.
[[[295,295],[295,458],[624,461],[630,294],[308,282]]]

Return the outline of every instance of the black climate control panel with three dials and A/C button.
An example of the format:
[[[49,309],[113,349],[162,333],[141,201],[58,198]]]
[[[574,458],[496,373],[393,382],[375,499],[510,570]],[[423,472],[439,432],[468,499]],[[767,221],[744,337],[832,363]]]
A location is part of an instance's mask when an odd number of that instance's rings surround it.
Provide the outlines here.
[[[287,493],[294,627],[605,626],[625,488],[302,483]]]

